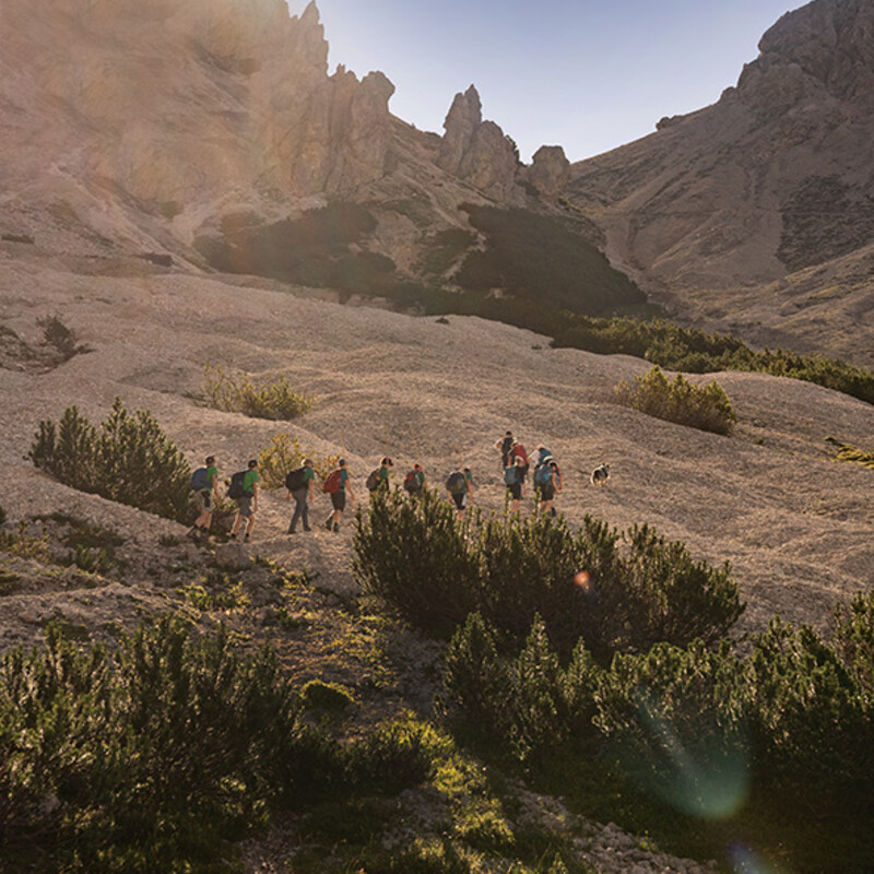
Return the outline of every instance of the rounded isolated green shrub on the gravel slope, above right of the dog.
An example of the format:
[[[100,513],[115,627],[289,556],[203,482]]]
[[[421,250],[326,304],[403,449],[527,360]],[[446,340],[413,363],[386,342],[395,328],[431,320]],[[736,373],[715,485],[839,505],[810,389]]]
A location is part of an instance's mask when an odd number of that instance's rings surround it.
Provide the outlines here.
[[[641,413],[714,434],[729,434],[737,421],[728,394],[717,382],[698,388],[683,374],[671,382],[658,366],[646,376],[635,377],[634,385],[621,382],[616,394],[626,406]]]

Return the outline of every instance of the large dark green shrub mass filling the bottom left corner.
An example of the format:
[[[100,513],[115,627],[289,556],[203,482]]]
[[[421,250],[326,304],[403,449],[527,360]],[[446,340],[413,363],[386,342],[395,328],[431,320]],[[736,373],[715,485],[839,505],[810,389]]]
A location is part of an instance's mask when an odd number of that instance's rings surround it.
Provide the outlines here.
[[[109,653],[56,628],[45,651],[0,662],[0,843],[31,870],[215,871],[228,841],[272,807],[424,779],[424,728],[380,727],[352,743],[302,721],[270,650],[244,656],[225,628],[178,618]]]

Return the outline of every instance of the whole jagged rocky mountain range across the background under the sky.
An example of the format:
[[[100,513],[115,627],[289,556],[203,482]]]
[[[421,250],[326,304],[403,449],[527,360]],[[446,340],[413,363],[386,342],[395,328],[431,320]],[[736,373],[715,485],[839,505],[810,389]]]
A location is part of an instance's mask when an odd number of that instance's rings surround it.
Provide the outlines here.
[[[329,74],[315,3],[3,0],[0,236],[199,270],[227,221],[353,201],[368,257],[432,282],[461,203],[565,211],[688,320],[874,365],[874,8],[814,0],[760,49],[713,106],[525,167],[473,85],[439,137],[391,115],[382,73]]]

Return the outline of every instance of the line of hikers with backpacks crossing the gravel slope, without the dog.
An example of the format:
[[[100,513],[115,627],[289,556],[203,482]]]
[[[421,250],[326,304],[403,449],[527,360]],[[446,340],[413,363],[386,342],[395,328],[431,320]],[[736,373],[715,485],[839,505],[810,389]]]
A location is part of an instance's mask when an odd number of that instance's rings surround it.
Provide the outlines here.
[[[538,498],[538,512],[550,512],[555,516],[553,506],[556,493],[562,491],[562,472],[548,449],[539,446],[531,456],[524,446],[516,440],[512,432],[507,432],[498,439],[495,448],[500,451],[501,470],[506,485],[510,509],[519,512],[520,504],[525,497],[528,474],[533,470],[533,485]],[[379,466],[367,476],[367,491],[373,493],[388,492],[391,488],[391,469],[394,462],[388,457],[380,459]],[[336,468],[318,485],[320,491],[331,498],[331,511],[323,521],[328,531],[340,531],[340,520],[346,508],[346,500],[355,503],[352,488],[352,476],[346,460],[341,458]],[[218,469],[215,457],[209,456],[204,466],[198,468],[191,475],[190,487],[194,494],[199,515],[191,527],[190,535],[205,539],[210,534],[212,515],[218,500]],[[403,489],[412,497],[422,494],[425,488],[425,471],[420,463],[413,464],[402,482]],[[237,540],[240,532],[248,542],[258,512],[259,493],[258,460],[252,459],[246,469],[235,473],[228,483],[227,496],[236,501],[237,513],[231,529],[231,540]],[[298,525],[304,531],[311,531],[309,507],[316,497],[317,474],[312,459],[305,458],[299,468],[290,471],[285,476],[285,499],[294,500],[294,513],[288,524],[288,534],[296,534]],[[470,468],[461,468],[449,474],[445,488],[456,506],[458,517],[464,518],[468,507],[473,504],[474,482]]]

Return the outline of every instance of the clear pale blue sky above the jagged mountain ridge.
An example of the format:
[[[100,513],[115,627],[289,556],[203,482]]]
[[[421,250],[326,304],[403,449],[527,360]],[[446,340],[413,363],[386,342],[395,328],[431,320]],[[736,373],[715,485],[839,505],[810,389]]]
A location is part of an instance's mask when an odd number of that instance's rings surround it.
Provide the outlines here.
[[[571,161],[700,109],[734,85],[758,40],[802,0],[316,0],[329,64],[381,70],[389,108],[442,133],[473,84],[529,163],[541,145]],[[307,0],[288,0],[299,15]]]

